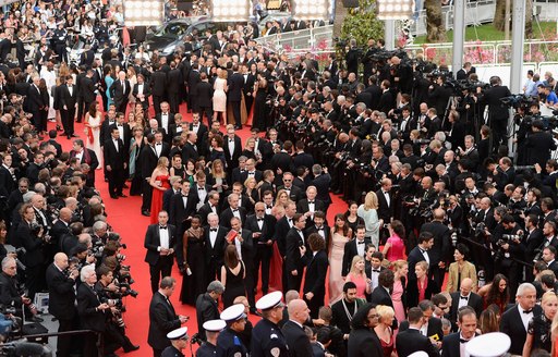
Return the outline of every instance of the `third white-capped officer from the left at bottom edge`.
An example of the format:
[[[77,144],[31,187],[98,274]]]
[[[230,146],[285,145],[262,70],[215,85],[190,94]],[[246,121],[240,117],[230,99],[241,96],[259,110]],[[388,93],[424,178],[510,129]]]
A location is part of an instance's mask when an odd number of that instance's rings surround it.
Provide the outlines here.
[[[228,307],[221,312],[220,318],[227,321],[227,329],[217,337],[217,356],[247,357],[248,350],[239,337],[239,333],[244,331],[244,327],[246,325],[244,305],[236,304]]]

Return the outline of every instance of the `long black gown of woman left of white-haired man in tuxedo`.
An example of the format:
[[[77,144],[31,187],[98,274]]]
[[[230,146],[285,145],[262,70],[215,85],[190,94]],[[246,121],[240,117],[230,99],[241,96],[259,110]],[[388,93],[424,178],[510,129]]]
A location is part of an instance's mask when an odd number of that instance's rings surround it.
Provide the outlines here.
[[[184,272],[182,275],[182,290],[180,291],[180,300],[182,304],[195,306],[196,298],[207,290],[205,281],[205,241],[202,234],[197,238],[191,230],[184,232],[187,237],[186,262],[192,271],[189,275]]]

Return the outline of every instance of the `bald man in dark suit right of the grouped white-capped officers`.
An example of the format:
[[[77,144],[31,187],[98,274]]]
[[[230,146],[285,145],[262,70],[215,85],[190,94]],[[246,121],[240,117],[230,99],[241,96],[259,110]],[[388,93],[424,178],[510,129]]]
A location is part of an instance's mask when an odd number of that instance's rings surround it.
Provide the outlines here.
[[[283,333],[291,357],[314,356],[310,338],[304,333],[303,324],[308,320],[308,306],[302,299],[291,300],[288,305],[289,321],[283,324]]]

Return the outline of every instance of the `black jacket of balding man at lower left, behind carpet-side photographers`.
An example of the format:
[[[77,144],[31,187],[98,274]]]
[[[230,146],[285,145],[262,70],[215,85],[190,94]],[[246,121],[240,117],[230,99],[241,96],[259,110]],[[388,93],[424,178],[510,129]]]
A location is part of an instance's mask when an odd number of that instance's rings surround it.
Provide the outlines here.
[[[48,311],[57,319],[72,320],[75,316],[75,281],[61,272],[54,263],[47,268]]]

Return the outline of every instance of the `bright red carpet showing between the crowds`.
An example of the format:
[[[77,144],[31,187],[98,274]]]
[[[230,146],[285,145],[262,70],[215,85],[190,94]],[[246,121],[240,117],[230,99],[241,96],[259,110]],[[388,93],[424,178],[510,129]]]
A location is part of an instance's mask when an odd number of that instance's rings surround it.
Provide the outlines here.
[[[192,116],[191,114],[186,113],[185,104],[182,104],[180,109],[183,118],[185,118],[187,121],[191,121]],[[153,116],[154,115],[150,115],[150,118]],[[49,123],[49,128],[54,128],[54,123]],[[83,124],[76,123],[75,134],[85,140]],[[238,134],[241,136],[242,143],[244,143],[245,139],[250,136],[250,128],[244,126],[244,128],[239,131]],[[63,146],[65,151],[71,149],[71,141],[65,137],[59,137],[58,140]],[[134,344],[141,345],[141,348],[134,353],[129,354],[124,354],[121,349],[118,353],[121,356],[149,356],[151,354],[151,348],[147,344],[147,332],[149,329],[149,301],[151,298],[151,292],[149,282],[149,269],[147,263],[144,262],[144,237],[147,225],[149,224],[149,218],[141,214],[141,197],[111,199],[108,195],[108,184],[104,180],[102,170],[98,170],[96,174],[96,188],[101,193],[102,199],[105,201],[108,213],[108,222],[112,225],[116,232],[121,234],[122,241],[128,245],[128,249],[123,250],[122,254],[126,256],[124,263],[131,266],[132,276],[136,281],[132,287],[140,292],[140,295],[135,299],[132,297],[125,298],[124,303],[126,305],[128,312],[124,313],[124,321],[126,323],[126,334],[130,336]],[[124,193],[128,195],[128,190]],[[330,206],[328,213],[329,222],[333,222],[333,217],[336,213],[344,212],[347,210],[347,204],[344,201],[333,195],[332,199],[333,204]],[[185,327],[189,329],[189,334],[193,335],[195,332],[197,332],[196,311],[194,307],[182,305],[179,301],[182,276],[180,275],[178,268],[175,266],[174,268],[175,269],[172,272],[172,276],[177,279],[178,286],[173,296],[171,297],[171,301],[174,306],[174,309],[177,310],[177,313],[190,317],[190,321],[186,322]],[[262,293],[259,292],[256,298],[258,298],[260,295]],[[250,320],[255,324],[259,318],[251,315]],[[186,355],[189,354],[187,350],[183,350],[183,353]]]

